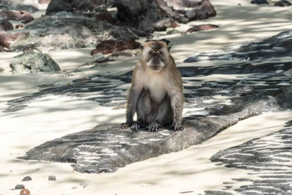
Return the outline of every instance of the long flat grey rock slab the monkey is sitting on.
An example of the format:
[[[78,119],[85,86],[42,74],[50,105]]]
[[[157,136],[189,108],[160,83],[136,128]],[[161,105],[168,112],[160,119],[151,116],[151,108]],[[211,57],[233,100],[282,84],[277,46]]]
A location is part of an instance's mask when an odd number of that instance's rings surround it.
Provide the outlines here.
[[[291,88],[276,94],[244,96],[237,98],[234,105],[208,106],[201,114],[190,111],[184,117],[183,132],[169,131],[170,127],[158,132],[144,129],[132,132],[121,129],[121,124],[107,123],[45,142],[20,159],[76,163],[76,170],[81,173],[113,172],[126,164],[199,144],[239,120],[263,111],[292,108]]]

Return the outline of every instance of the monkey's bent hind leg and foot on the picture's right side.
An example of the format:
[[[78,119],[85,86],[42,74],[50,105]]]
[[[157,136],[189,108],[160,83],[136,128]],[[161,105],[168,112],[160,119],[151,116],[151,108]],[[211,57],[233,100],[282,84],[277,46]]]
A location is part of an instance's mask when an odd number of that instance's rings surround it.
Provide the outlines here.
[[[152,108],[152,111],[146,117],[148,120],[152,119],[150,125],[148,125],[146,129],[150,132],[157,132],[162,125],[172,122],[173,111],[171,109],[170,100],[167,96],[160,104],[154,103]]]

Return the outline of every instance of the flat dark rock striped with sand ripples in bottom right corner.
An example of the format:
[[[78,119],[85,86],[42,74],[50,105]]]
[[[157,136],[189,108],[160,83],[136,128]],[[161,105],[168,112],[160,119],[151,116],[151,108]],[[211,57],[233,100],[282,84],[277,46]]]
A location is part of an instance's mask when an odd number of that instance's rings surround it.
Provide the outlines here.
[[[250,175],[256,177],[234,178],[236,186],[229,184],[224,191],[205,193],[227,195],[256,191],[256,194],[292,194],[291,139],[292,129],[287,128],[219,151],[210,158],[212,162],[221,162],[227,168],[253,170],[255,172]]]

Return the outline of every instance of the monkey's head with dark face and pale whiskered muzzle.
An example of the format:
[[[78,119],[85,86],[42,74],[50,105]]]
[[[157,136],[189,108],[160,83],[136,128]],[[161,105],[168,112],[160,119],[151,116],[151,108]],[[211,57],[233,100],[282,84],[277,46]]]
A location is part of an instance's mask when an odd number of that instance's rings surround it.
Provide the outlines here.
[[[168,63],[170,48],[162,41],[146,41],[142,48],[142,58],[147,67],[152,71],[160,71]]]

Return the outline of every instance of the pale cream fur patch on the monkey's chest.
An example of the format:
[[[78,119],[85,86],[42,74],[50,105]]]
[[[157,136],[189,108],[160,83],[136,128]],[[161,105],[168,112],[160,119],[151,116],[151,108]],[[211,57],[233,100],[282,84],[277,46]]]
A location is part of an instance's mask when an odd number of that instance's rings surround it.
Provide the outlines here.
[[[144,87],[149,91],[151,99],[157,103],[163,101],[167,94],[165,79],[163,77],[150,77],[144,83]]]

